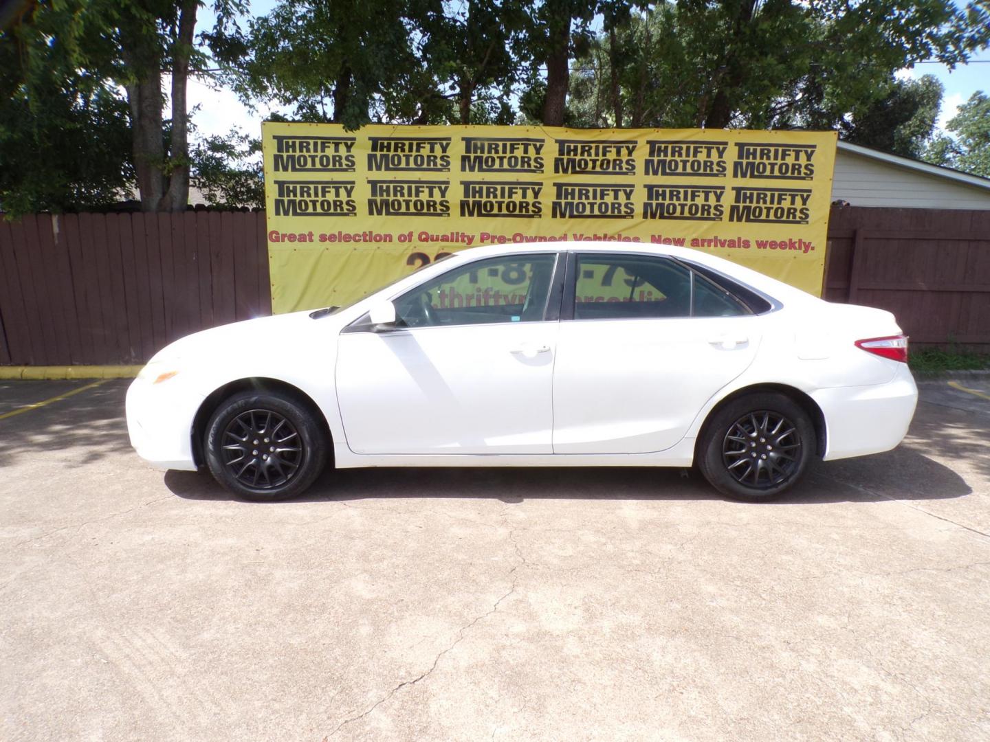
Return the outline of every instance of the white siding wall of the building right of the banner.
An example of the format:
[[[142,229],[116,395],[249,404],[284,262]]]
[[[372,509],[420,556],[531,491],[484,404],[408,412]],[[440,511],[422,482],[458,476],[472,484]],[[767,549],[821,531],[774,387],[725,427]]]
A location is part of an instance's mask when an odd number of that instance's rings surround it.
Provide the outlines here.
[[[990,209],[990,188],[979,188],[839,149],[832,200],[850,206],[902,209]]]

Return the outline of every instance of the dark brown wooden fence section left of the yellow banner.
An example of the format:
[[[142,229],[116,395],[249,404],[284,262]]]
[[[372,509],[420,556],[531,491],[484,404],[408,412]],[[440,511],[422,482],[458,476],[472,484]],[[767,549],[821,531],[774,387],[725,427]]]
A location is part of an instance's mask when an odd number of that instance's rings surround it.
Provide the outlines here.
[[[271,314],[263,213],[0,221],[0,364],[138,364]]]

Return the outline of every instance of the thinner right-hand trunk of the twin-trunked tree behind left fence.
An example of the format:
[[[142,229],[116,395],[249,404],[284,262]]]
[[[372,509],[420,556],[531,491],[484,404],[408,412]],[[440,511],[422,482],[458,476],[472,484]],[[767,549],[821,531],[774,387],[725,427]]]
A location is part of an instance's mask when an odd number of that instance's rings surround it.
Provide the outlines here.
[[[186,87],[189,55],[196,30],[197,0],[183,0],[179,14],[178,39],[172,51],[172,133],[169,143],[170,173],[168,191],[158,211],[183,212],[189,203],[189,111]]]

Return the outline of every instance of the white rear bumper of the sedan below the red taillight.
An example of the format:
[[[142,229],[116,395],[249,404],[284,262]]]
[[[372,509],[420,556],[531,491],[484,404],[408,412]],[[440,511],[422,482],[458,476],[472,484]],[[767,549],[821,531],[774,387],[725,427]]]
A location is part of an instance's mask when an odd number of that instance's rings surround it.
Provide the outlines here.
[[[886,384],[837,387],[813,393],[825,414],[825,460],[889,451],[904,439],[918,404],[918,387],[906,363]]]

